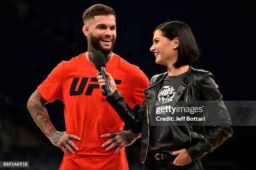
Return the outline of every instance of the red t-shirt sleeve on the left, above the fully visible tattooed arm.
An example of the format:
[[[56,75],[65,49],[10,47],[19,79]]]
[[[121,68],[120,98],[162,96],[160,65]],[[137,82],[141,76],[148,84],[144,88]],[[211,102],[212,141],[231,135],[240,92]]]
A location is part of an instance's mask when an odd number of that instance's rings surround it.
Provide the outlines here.
[[[62,71],[63,63],[59,63],[47,76],[47,78],[40,84],[37,89],[41,96],[49,103],[62,99]]]

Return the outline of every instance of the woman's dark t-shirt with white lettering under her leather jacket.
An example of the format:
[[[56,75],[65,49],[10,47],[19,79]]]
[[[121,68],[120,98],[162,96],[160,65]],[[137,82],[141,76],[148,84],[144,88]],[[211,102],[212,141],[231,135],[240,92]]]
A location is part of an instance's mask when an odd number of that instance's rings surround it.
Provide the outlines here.
[[[186,76],[187,72],[177,76],[166,76],[158,92],[155,103],[156,107],[166,106],[165,101],[172,101],[178,87],[182,83],[182,79]],[[164,114],[164,113],[161,113]],[[165,123],[165,122],[164,122]],[[151,133],[149,134],[148,152],[166,152],[169,153],[174,146],[174,139],[172,129],[170,126],[152,126]]]

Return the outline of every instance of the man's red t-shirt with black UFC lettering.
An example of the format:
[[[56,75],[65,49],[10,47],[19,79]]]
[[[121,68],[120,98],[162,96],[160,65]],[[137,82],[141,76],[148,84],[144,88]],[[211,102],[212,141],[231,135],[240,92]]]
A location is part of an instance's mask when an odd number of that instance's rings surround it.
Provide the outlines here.
[[[106,63],[106,70],[116,80],[117,89],[130,107],[143,103],[143,90],[149,86],[149,81],[138,66],[114,54]],[[118,132],[124,123],[105,101],[106,96],[102,95],[97,82],[97,72],[83,53],[59,63],[38,86],[46,101],[63,101],[67,133],[81,138],[80,141],[72,139],[79,150],[75,154],[64,154],[60,170],[128,170],[124,148],[113,155],[116,148],[106,152],[101,147],[110,138],[100,135]]]

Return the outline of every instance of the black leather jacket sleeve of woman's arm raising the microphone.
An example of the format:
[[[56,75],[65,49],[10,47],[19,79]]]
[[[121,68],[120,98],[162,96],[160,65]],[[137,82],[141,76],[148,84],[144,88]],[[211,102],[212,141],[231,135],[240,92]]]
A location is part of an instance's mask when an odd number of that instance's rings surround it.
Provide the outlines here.
[[[146,103],[145,101],[136,114],[128,106],[128,104],[125,103],[123,96],[118,90],[116,90],[112,96],[108,96],[106,100],[115,109],[119,117],[123,120],[123,122],[125,122],[133,133],[138,134],[141,132],[144,117],[144,107]]]

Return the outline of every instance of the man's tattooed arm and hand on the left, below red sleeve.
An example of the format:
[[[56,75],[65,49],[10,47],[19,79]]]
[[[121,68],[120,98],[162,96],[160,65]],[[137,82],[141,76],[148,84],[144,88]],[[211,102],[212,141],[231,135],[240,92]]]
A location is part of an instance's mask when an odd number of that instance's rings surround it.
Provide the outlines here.
[[[69,152],[75,153],[72,147],[76,150],[78,150],[78,147],[72,140],[70,140],[70,138],[74,138],[76,140],[80,140],[80,138],[74,134],[67,134],[67,132],[56,131],[44,106],[46,103],[47,101],[41,96],[41,94],[39,94],[38,90],[36,89],[36,91],[28,99],[28,111],[30,112],[37,126],[44,132],[46,137],[51,140],[53,145],[59,147],[67,155],[69,155]]]

